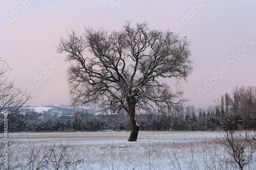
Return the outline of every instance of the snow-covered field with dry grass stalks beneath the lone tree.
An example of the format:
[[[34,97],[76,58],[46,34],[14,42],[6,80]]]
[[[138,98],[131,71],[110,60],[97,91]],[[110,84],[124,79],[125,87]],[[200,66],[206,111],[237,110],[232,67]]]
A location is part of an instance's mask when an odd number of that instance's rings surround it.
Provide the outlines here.
[[[223,132],[130,132],[12,133],[15,155],[27,161],[31,151],[68,145],[71,155],[84,158],[76,169],[232,169],[221,161],[224,150],[216,143]],[[37,149],[37,150],[36,150]],[[10,158],[11,159],[11,158]],[[24,160],[23,160],[24,159]],[[13,159],[14,160],[14,159]],[[14,161],[15,162],[15,161]],[[54,168],[52,168],[54,169]]]

